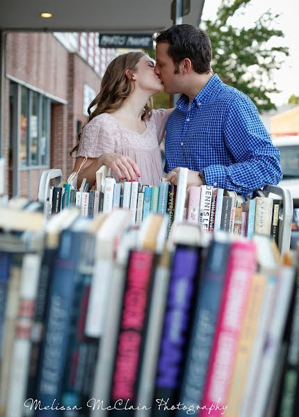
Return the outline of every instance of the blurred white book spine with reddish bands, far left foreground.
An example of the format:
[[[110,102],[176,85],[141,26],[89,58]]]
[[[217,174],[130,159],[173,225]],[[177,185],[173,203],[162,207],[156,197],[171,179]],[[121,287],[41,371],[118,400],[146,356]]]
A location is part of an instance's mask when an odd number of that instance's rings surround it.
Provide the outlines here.
[[[10,368],[7,417],[22,416],[26,400],[27,377],[31,351],[31,329],[40,277],[40,256],[25,254],[19,294],[19,311]]]

